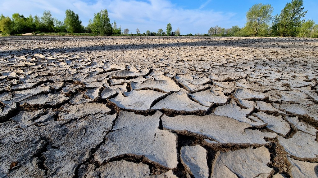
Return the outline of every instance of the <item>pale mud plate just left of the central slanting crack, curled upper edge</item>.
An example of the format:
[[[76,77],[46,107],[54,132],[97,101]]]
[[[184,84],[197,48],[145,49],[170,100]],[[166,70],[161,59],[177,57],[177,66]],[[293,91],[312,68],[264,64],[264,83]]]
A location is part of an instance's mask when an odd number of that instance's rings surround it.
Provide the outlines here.
[[[165,93],[153,90],[132,90],[130,92],[124,92],[123,94],[121,92],[118,93],[118,95],[114,99],[110,99],[110,101],[125,109],[148,110],[152,102]]]

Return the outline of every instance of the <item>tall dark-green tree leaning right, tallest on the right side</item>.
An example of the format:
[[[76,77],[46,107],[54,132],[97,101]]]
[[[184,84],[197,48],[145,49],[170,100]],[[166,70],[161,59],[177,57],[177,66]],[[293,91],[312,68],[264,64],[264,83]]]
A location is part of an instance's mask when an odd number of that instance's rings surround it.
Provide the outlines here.
[[[305,17],[307,10],[304,11],[302,0],[292,0],[291,3],[286,3],[280,15],[274,17],[272,30],[274,35],[280,36],[296,36],[298,29],[301,27],[302,20]]]

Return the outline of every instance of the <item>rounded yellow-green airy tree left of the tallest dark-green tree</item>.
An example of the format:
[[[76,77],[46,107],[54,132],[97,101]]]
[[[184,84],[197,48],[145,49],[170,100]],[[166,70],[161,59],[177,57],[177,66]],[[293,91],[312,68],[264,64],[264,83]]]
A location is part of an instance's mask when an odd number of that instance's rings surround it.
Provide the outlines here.
[[[258,35],[261,28],[271,21],[273,7],[270,4],[255,4],[246,12],[246,25],[253,29],[253,35]]]

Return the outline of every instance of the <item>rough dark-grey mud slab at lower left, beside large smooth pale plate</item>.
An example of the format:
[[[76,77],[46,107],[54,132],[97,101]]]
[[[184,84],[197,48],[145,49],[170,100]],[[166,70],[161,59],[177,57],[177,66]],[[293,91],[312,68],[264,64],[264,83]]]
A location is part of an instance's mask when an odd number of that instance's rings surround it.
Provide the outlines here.
[[[41,135],[49,138],[55,146],[55,149],[49,149],[43,154],[48,176],[74,177],[77,165],[88,159],[90,150],[103,142],[115,118],[116,114],[99,118],[88,116],[66,125],[52,123],[39,129],[39,132],[44,131]]]

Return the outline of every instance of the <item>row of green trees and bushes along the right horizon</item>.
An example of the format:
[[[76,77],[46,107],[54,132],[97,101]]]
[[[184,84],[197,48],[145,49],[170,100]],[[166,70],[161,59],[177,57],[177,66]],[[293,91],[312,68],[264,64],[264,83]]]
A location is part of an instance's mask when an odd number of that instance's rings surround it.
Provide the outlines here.
[[[292,0],[286,3],[280,14],[272,16],[273,7],[270,4],[258,3],[246,12],[245,27],[233,26],[230,29],[218,26],[208,30],[209,36],[298,36],[318,37],[318,24],[315,21],[303,19],[303,0]],[[271,24],[270,24],[271,23]]]

